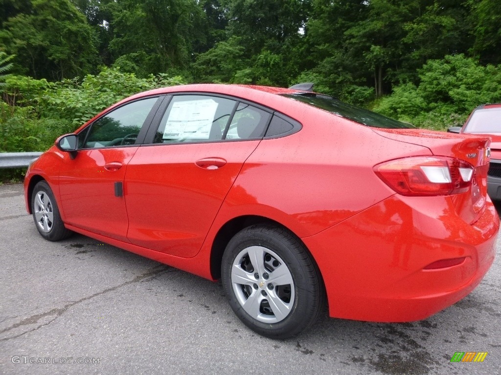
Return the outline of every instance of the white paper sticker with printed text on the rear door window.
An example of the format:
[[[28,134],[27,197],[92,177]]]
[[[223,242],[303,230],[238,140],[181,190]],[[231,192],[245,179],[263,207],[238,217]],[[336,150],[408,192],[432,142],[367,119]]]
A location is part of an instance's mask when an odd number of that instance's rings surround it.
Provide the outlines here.
[[[163,139],[208,139],[217,110],[212,99],[178,101],[172,104]]]

